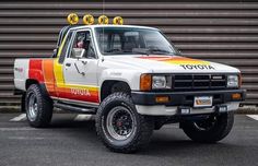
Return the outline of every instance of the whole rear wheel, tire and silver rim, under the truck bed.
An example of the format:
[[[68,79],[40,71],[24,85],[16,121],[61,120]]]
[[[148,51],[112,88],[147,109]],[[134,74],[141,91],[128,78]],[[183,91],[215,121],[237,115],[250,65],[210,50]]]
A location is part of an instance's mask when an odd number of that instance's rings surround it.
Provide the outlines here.
[[[52,102],[43,94],[39,85],[33,84],[27,88],[25,110],[28,123],[32,127],[44,128],[51,121]]]

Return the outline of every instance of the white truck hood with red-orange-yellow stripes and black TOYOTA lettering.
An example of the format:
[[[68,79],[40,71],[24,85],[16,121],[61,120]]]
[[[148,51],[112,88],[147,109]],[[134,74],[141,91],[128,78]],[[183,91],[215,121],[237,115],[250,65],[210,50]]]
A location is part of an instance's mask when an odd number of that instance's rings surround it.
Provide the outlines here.
[[[238,73],[230,66],[179,56],[108,56],[105,60],[153,73]]]

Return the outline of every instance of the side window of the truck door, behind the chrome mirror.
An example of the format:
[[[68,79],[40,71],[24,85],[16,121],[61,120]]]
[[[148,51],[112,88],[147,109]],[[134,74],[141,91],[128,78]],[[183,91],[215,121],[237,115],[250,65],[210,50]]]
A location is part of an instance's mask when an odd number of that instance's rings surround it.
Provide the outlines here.
[[[70,58],[95,58],[90,31],[77,33]]]

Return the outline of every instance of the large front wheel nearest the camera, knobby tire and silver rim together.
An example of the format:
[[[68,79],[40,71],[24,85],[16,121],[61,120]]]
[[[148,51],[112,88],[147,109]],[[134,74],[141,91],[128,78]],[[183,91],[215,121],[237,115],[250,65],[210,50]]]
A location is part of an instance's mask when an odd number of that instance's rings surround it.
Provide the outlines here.
[[[152,118],[139,115],[126,93],[109,95],[97,110],[97,135],[114,152],[131,153],[143,147],[150,141],[153,128]]]

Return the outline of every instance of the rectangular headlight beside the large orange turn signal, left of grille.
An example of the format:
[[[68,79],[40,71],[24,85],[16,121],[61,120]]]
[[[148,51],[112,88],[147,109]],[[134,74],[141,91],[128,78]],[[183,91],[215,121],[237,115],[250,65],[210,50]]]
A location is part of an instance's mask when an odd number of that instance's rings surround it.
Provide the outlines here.
[[[172,87],[172,78],[165,75],[153,75],[152,76],[152,88],[171,88]]]

